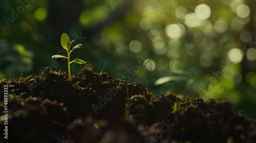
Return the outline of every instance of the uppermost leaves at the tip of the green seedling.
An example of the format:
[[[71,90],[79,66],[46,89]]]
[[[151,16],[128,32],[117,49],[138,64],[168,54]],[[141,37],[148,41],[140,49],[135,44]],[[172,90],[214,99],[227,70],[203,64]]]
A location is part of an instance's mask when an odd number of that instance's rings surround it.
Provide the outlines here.
[[[72,42],[74,42],[75,40],[73,40]],[[71,47],[72,42],[70,42],[69,36],[66,33],[63,33],[60,37],[60,43],[61,46],[66,49],[68,52],[72,52],[75,49],[80,49],[82,47],[82,44],[76,45],[72,50],[69,50],[69,48]]]

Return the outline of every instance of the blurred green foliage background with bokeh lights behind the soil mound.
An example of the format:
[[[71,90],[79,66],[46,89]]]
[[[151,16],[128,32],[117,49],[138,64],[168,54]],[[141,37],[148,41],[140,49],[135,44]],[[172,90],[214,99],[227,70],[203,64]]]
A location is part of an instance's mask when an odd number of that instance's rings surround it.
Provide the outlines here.
[[[0,79],[50,66],[62,33],[95,72],[139,81],[156,95],[228,100],[256,117],[256,2],[8,1],[0,2]],[[73,60],[73,59],[71,59]],[[80,70],[75,65],[74,73]],[[33,71],[33,72],[32,72]]]

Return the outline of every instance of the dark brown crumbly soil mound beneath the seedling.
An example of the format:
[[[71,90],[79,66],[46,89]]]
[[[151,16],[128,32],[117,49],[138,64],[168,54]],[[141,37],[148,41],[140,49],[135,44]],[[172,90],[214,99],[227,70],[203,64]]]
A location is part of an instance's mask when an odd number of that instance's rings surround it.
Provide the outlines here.
[[[4,85],[8,139],[0,142],[256,142],[255,120],[234,113],[227,101],[155,96],[139,82],[91,69],[72,81],[49,68],[33,78],[2,80],[1,114]]]

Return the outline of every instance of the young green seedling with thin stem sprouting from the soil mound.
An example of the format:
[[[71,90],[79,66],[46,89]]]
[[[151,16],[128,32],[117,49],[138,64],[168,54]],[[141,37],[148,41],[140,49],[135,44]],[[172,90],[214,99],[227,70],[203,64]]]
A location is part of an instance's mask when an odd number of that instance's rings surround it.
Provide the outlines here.
[[[74,42],[74,40],[72,41]],[[86,62],[80,60],[80,59],[75,59],[73,60],[72,62],[70,62],[70,54],[73,50],[75,49],[80,49],[82,48],[82,44],[79,44],[79,45],[76,45],[75,47],[73,47],[73,49],[70,49],[71,47],[71,44],[72,42],[70,42],[70,39],[69,39],[69,36],[66,34],[66,33],[63,33],[61,35],[61,38],[60,38],[60,43],[61,43],[61,46],[67,50],[67,53],[68,53],[68,57],[67,56],[63,56],[63,55],[60,55],[60,54],[56,54],[56,55],[53,55],[52,56],[52,59],[58,59],[58,58],[66,58],[68,59],[68,68],[69,68],[69,80],[71,80],[71,71],[70,71],[70,64],[71,63],[77,63],[77,64],[86,64]]]

